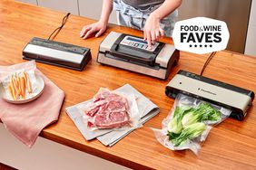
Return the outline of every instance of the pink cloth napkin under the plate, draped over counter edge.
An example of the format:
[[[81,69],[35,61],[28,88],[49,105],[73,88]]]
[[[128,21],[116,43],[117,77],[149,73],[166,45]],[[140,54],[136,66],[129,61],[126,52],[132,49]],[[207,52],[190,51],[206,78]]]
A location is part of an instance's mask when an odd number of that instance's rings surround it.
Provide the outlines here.
[[[0,66],[0,80],[6,74],[20,69],[34,69],[35,73],[44,79],[44,91],[34,101],[16,105],[0,99],[0,119],[5,128],[29,147],[34,145],[36,138],[44,127],[59,118],[60,109],[64,101],[64,91],[60,90],[41,71],[35,68],[34,61],[27,61],[13,66]]]

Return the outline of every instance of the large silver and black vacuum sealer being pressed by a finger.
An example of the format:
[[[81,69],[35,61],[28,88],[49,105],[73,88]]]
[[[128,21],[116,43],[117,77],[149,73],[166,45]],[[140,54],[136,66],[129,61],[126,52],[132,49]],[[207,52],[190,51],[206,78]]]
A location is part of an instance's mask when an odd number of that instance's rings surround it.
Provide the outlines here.
[[[140,37],[111,32],[100,44],[97,61],[164,80],[179,54],[171,44],[155,42],[150,50]]]

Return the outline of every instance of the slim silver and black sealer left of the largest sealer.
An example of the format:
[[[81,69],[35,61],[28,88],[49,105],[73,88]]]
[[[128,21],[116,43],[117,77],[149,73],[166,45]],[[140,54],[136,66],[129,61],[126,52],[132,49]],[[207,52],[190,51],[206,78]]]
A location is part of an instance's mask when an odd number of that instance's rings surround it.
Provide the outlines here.
[[[26,44],[23,58],[83,71],[92,56],[88,48],[34,37]]]

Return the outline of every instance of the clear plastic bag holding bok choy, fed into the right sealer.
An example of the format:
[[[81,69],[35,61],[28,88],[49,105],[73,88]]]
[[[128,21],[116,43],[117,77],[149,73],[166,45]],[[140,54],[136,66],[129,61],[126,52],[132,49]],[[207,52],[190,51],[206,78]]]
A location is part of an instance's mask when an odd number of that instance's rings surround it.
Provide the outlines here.
[[[162,120],[162,129],[154,129],[157,140],[171,150],[191,149],[198,154],[212,126],[231,114],[230,109],[179,94],[171,112]]]

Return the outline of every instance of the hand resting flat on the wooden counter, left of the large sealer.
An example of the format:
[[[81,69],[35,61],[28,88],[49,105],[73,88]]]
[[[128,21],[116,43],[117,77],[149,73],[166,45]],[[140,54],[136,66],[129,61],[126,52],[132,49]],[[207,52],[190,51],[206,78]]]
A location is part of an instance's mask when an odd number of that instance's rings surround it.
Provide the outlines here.
[[[93,33],[95,33],[95,37],[101,36],[106,30],[106,23],[102,21],[98,21],[94,24],[85,25],[80,33],[80,37],[84,39],[91,37]]]

